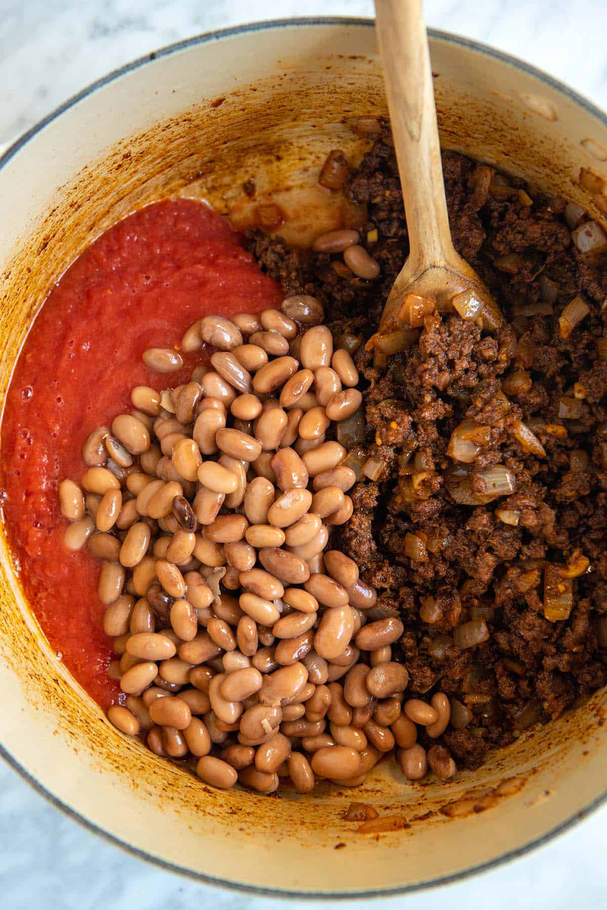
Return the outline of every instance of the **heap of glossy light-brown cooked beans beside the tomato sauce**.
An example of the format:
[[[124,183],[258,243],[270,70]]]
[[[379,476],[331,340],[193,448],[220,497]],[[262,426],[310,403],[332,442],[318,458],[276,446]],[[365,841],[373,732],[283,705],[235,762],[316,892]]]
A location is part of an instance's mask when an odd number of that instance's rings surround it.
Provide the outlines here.
[[[102,561],[124,693],[108,718],[218,787],[356,786],[395,748],[410,780],[429,765],[446,780],[450,753],[416,741],[444,732],[449,700],[403,703],[402,623],[374,617],[377,592],[329,543],[358,479],[331,438],[361,407],[358,371],[318,300],[281,309],[199,320],[181,349],[212,346],[210,368],[133,389],[134,410],[86,440],[80,485],[60,484],[67,547]]]

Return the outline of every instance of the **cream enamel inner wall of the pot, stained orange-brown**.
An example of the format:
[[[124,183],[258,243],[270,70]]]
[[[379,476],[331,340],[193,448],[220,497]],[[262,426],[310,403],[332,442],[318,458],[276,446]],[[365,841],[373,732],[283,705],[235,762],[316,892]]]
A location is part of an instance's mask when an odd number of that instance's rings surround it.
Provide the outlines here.
[[[444,146],[592,210],[576,180],[582,166],[607,173],[582,145],[607,148],[604,118],[448,36],[433,37],[431,54]],[[311,186],[330,148],[359,156],[349,122],[369,113],[385,113],[373,29],[329,20],[185,45],[68,106],[0,167],[0,388],[46,288],[103,228],[171,193],[238,209],[250,176],[268,192]],[[5,546],[1,561],[7,755],[87,822],[188,873],[308,895],[399,890],[517,852],[604,794],[603,693],[448,785],[406,784],[386,762],[355,791],[323,785],[268,799],[213,790],[105,722],[46,645]],[[476,814],[483,794],[489,807]],[[402,814],[410,827],[356,834],[343,821],[351,800]],[[439,811],[454,803],[456,817]]]

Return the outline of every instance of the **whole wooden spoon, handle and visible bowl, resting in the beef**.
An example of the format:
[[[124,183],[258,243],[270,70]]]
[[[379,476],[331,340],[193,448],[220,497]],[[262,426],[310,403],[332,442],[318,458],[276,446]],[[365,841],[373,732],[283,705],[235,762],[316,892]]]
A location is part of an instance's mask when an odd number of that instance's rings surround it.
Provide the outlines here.
[[[431,298],[440,311],[452,312],[455,295],[468,292],[457,301],[460,315],[495,331],[504,324],[500,309],[451,240],[421,0],[376,0],[375,12],[410,253],[390,290],[372,346],[381,336],[408,328],[411,304],[416,304],[405,302],[408,294]],[[419,306],[423,315],[422,301]],[[411,324],[421,325],[421,320]]]

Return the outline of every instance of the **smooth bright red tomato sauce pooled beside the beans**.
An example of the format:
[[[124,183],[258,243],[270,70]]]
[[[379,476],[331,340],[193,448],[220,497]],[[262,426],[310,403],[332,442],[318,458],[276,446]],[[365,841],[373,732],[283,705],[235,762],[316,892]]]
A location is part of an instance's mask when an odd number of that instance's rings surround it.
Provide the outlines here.
[[[6,396],[0,465],[5,526],[28,602],[57,656],[102,707],[118,696],[106,667],[99,563],[68,551],[57,485],[80,481],[96,427],[131,410],[130,389],[176,386],[184,369],[147,369],[143,351],[178,349],[200,317],[276,307],[281,293],[228,223],[181,199],[126,217],[76,259],[51,290],[25,340]]]

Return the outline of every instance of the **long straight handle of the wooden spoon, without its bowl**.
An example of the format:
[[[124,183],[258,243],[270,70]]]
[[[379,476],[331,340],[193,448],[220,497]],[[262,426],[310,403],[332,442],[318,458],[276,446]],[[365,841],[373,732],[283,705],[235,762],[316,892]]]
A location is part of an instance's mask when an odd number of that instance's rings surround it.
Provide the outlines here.
[[[375,15],[410,258],[420,267],[441,265],[453,244],[421,0],[375,0]]]

